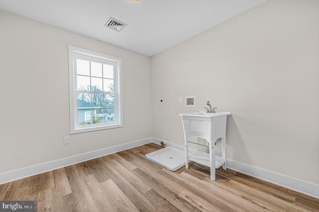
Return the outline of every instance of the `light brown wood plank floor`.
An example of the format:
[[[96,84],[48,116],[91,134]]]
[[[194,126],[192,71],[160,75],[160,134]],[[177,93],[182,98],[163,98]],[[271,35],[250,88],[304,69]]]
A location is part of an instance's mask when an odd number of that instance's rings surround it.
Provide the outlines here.
[[[176,172],[145,159],[146,144],[0,185],[0,200],[35,201],[44,212],[319,211],[319,199],[222,168],[216,181],[196,163]]]

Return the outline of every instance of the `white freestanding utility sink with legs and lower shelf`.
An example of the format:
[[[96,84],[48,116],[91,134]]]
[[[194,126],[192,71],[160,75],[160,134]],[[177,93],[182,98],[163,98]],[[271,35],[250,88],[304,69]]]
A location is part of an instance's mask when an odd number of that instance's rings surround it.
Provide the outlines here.
[[[188,169],[188,163],[194,161],[210,168],[210,180],[215,180],[215,168],[223,166],[226,170],[226,120],[231,112],[191,112],[179,114],[182,119],[184,129],[185,146],[185,168]],[[209,143],[209,153],[195,151],[188,155],[189,138],[196,136],[206,139]],[[222,156],[216,156],[216,140],[221,138]]]

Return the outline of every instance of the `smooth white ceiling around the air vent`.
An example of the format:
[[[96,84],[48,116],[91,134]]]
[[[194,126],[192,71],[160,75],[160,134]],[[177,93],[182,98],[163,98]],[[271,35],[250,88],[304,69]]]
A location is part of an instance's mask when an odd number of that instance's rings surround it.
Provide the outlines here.
[[[0,8],[153,56],[267,0],[0,0]],[[104,26],[109,17],[128,25]]]

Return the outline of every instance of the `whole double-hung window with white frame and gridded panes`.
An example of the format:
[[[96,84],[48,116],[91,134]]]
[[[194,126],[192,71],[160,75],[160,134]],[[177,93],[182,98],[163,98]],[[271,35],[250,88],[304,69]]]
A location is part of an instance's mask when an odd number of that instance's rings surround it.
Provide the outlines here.
[[[70,133],[123,126],[122,59],[69,46]]]

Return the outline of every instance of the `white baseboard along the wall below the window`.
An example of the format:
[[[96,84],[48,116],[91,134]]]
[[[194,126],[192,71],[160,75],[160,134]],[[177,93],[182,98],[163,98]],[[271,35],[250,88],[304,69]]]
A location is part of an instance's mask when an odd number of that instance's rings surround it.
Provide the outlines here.
[[[26,168],[22,168],[22,169],[18,169],[18,170],[13,170],[10,172],[0,173],[0,184],[7,183],[10,181],[14,181],[14,180],[18,180],[18,179],[25,178],[25,177],[29,177],[29,176],[33,176],[36,174],[48,172],[48,171],[51,171],[54,169],[59,169],[59,168],[66,167],[66,166],[69,166],[72,164],[80,163],[80,162],[91,160],[91,159],[98,158],[98,157],[102,157],[102,156],[109,155],[109,154],[112,154],[115,152],[120,152],[120,151],[123,151],[126,149],[141,146],[141,145],[151,143],[151,142],[152,142],[151,137],[145,138],[142,140],[137,140],[137,141],[125,143],[125,144],[121,144],[118,146],[112,146],[109,148],[100,149],[100,150],[96,150],[96,151],[92,151],[92,152],[87,152],[84,154],[75,155],[72,157],[63,158],[63,159],[59,159],[59,160],[55,160],[55,161],[50,161],[47,163],[38,164],[38,165],[34,165],[34,166],[30,166],[30,167],[26,167]]]

